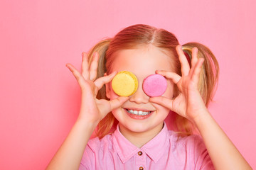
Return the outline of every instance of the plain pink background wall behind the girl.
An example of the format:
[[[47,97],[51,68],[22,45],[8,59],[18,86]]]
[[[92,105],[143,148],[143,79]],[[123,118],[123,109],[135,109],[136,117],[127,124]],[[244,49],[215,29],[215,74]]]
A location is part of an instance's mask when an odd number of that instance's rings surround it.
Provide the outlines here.
[[[52,1],[0,3],[0,169],[45,169],[80,110],[65,67],[124,27],[146,23],[201,42],[218,58],[210,112],[256,168],[255,7],[246,1]]]

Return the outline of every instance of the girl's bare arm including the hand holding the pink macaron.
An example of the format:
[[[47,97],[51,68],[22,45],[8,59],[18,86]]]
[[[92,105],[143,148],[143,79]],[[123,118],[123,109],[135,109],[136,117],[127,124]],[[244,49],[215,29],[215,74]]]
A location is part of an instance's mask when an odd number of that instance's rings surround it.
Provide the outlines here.
[[[174,81],[178,86],[179,95],[172,99],[160,96],[149,100],[171,109],[196,125],[215,169],[252,169],[211,117],[203,102],[198,90],[203,59],[198,59],[197,48],[192,50],[191,68],[180,45],[176,47],[176,51],[181,62],[182,77],[174,72],[156,71],[156,73]]]

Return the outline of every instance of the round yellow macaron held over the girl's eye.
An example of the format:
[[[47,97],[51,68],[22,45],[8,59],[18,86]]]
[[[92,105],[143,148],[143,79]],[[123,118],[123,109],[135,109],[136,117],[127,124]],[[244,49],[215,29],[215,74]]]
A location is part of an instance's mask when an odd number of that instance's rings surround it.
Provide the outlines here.
[[[122,71],[112,79],[112,89],[119,96],[131,96],[138,89],[138,79],[132,72]]]

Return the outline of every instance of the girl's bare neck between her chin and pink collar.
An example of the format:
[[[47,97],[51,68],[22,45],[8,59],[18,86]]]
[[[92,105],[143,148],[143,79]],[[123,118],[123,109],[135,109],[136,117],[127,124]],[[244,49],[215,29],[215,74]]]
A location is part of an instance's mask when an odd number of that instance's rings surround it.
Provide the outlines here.
[[[119,124],[119,130],[124,135],[129,142],[131,142],[136,147],[141,148],[151,139],[153,139],[164,127],[164,123],[157,125],[155,128],[151,130],[147,130],[146,132],[132,132],[131,130],[125,128],[123,125]]]

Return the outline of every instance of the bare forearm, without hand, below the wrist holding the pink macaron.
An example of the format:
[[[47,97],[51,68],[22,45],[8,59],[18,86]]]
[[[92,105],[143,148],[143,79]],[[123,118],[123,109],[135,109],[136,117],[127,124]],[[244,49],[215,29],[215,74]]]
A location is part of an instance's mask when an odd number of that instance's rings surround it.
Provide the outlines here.
[[[206,110],[194,119],[215,169],[252,169]]]

